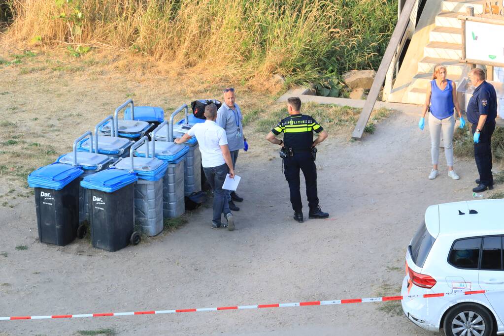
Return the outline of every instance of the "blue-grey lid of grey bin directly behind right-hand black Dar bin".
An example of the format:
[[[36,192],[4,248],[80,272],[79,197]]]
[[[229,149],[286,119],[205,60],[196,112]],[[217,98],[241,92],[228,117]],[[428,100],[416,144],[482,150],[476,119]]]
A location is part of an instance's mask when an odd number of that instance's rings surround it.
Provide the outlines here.
[[[130,171],[131,157],[120,158],[113,166],[116,169]],[[142,180],[157,181],[162,179],[167,167],[168,163],[155,157],[133,157],[133,171]]]

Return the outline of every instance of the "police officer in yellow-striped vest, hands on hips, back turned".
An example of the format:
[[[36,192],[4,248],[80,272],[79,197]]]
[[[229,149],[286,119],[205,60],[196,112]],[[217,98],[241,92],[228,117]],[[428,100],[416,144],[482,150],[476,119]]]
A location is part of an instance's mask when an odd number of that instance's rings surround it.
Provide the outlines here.
[[[284,160],[285,179],[289,183],[290,202],[294,210],[294,219],[303,222],[301,193],[299,192],[299,170],[303,172],[306,181],[306,196],[308,197],[308,218],[327,218],[319,206],[317,196],[317,166],[315,158],[317,146],[327,138],[327,132],[310,116],[302,115],[301,100],[298,97],[287,99],[289,116],[282,119],[266,136],[266,140],[282,146],[281,155]],[[277,135],[285,133],[283,140]],[[319,136],[313,141],[313,132]]]

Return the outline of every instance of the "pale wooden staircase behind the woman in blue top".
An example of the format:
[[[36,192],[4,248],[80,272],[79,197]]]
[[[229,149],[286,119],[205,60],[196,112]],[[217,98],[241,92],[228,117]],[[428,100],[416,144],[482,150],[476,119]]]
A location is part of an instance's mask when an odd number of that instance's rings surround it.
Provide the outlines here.
[[[418,62],[403,103],[423,104],[425,91],[432,78],[435,64],[447,67],[448,78],[458,81],[465,64],[459,63],[462,56],[462,29],[459,15],[465,15],[467,6],[474,7],[475,14],[483,12],[481,1],[445,0],[442,11],[435,17],[435,27],[429,32],[429,41],[423,48],[423,58]]]

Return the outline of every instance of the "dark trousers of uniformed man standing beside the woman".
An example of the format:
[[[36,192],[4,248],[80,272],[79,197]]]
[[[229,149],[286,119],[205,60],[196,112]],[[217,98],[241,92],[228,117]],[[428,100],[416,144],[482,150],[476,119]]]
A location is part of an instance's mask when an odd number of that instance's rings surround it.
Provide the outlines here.
[[[472,125],[472,133],[478,125]],[[479,135],[479,142],[474,144],[474,159],[478,167],[479,180],[485,186],[493,185],[491,138],[495,130],[495,121],[487,122]]]

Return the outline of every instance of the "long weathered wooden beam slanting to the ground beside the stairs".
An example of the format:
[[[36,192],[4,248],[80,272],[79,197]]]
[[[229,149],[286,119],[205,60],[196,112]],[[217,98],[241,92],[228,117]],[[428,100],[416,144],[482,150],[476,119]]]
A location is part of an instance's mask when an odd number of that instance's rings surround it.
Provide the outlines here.
[[[371,116],[371,112],[373,111],[376,99],[378,99],[378,95],[380,94],[380,89],[382,88],[382,84],[385,80],[385,76],[387,75],[389,66],[392,63],[392,59],[396,54],[397,47],[399,46],[399,43],[401,43],[402,37],[406,31],[406,28],[408,27],[411,11],[413,10],[415,4],[415,0],[406,0],[406,3],[404,4],[404,7],[401,11],[401,16],[399,17],[396,28],[392,33],[389,45],[387,46],[385,54],[382,58],[382,62],[380,63],[380,67],[378,68],[378,71],[376,71],[373,85],[371,86],[371,90],[369,90],[369,95],[367,96],[364,107],[362,108],[362,112],[359,115],[359,120],[357,120],[357,124],[355,125],[355,128],[352,132],[352,138],[354,139],[360,139],[362,137],[362,133],[364,133],[364,128],[366,127],[367,121]]]

